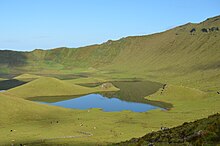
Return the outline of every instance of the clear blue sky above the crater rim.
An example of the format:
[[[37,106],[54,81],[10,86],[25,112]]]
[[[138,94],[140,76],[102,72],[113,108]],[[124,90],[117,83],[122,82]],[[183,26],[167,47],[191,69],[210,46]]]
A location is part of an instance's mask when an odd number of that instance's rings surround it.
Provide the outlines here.
[[[0,0],[0,49],[80,47],[220,15],[219,0]]]

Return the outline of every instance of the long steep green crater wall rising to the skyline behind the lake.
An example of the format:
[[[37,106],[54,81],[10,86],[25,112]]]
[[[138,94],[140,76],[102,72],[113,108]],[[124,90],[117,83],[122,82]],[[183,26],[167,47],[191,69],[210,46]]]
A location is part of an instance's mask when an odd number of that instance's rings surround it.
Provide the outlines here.
[[[0,72],[72,74],[92,70],[111,77],[135,75],[216,91],[220,83],[219,29],[220,16],[217,16],[162,33],[109,40],[100,45],[31,52],[0,51],[3,58]]]

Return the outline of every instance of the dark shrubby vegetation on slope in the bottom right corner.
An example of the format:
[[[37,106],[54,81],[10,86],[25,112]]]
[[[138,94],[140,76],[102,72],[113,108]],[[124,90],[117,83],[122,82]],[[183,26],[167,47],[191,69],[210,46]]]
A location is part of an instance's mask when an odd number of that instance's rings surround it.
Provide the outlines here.
[[[220,114],[194,122],[184,123],[174,128],[162,128],[141,138],[133,138],[118,146],[153,145],[216,145],[220,143]]]

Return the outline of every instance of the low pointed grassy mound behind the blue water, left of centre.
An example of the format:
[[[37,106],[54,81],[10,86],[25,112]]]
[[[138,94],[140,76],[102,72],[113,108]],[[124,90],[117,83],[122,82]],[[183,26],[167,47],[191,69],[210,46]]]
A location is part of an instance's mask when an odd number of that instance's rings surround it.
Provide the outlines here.
[[[7,90],[6,93],[16,95],[22,98],[29,97],[45,97],[45,96],[67,96],[67,95],[81,95],[98,91],[117,91],[118,89],[111,86],[108,89],[101,87],[87,88],[75,84],[67,83],[56,78],[40,77],[34,81],[26,83]]]

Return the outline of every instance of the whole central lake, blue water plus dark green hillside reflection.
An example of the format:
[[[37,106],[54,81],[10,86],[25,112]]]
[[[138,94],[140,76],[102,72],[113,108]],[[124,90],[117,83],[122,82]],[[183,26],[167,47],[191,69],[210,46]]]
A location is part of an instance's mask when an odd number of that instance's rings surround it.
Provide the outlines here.
[[[29,100],[40,101],[47,104],[65,108],[89,109],[101,108],[104,111],[131,110],[145,112],[155,108],[170,109],[172,104],[145,99],[163,86],[161,83],[151,81],[118,81],[112,82],[120,91],[101,92],[78,96],[32,97]],[[101,83],[100,83],[101,84]],[[95,87],[99,84],[81,84]]]

